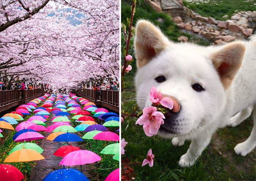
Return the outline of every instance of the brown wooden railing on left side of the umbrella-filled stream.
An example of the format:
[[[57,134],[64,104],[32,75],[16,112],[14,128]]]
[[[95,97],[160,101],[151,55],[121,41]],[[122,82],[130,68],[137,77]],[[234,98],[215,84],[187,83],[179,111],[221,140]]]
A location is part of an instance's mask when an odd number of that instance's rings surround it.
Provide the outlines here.
[[[44,94],[44,89],[0,90],[0,112],[19,104],[26,104]]]

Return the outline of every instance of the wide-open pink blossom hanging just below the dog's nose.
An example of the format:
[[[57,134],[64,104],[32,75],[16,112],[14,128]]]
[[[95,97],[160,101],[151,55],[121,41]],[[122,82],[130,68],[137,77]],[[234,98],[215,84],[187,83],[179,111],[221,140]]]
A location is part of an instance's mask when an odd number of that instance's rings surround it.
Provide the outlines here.
[[[156,135],[160,125],[164,123],[165,116],[153,106],[144,108],[142,112],[143,115],[139,117],[135,124],[143,125],[143,130],[147,136]]]

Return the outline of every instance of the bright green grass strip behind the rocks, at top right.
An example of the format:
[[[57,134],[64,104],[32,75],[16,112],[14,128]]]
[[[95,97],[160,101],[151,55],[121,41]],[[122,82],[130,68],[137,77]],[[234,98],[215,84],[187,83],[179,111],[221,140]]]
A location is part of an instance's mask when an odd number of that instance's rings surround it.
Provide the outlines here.
[[[217,20],[226,20],[222,18],[224,15],[229,15],[230,18],[236,9],[238,11],[256,10],[254,0],[208,0],[208,3],[184,0],[183,3],[194,12],[205,17],[211,16]]]

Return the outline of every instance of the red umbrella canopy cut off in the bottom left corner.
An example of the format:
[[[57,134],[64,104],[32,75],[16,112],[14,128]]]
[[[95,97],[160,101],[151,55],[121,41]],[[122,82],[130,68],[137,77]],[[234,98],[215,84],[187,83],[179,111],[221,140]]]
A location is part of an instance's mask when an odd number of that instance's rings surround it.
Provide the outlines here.
[[[0,164],[0,180],[1,181],[21,181],[24,179],[23,174],[15,166],[8,164]]]

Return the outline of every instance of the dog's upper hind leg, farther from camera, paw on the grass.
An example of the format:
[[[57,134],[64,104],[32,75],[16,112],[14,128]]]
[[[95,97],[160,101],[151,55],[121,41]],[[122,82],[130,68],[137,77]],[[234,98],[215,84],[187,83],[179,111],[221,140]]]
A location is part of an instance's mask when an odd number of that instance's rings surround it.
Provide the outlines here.
[[[252,106],[238,112],[236,115],[229,119],[227,122],[227,126],[236,127],[238,124],[242,123],[245,119],[247,119],[252,113]]]

